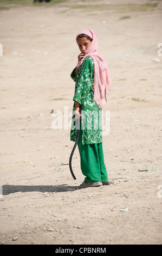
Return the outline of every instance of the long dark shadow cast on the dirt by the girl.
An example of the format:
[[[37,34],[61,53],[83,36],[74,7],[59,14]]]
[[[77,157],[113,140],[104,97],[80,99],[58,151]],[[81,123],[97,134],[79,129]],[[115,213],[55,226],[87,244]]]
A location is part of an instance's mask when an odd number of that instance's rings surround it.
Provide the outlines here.
[[[68,186],[67,184],[54,185],[54,186],[22,186],[22,185],[3,185],[2,194],[12,194],[16,192],[68,192],[77,190],[78,186]]]

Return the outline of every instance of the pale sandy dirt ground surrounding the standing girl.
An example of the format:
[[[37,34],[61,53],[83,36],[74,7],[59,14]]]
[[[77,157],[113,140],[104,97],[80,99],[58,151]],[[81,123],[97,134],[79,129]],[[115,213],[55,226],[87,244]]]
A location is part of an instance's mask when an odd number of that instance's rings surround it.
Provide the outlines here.
[[[100,8],[93,8],[94,2],[0,11],[1,244],[162,242],[162,2],[98,1]],[[62,163],[74,145],[70,73],[79,54],[75,36],[83,28],[95,31],[112,76],[103,150],[114,185],[78,190],[84,179],[78,149],[76,180]],[[52,110],[62,114],[62,130],[53,129],[58,115]]]

